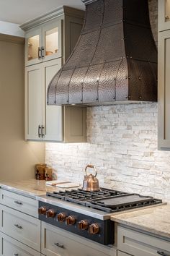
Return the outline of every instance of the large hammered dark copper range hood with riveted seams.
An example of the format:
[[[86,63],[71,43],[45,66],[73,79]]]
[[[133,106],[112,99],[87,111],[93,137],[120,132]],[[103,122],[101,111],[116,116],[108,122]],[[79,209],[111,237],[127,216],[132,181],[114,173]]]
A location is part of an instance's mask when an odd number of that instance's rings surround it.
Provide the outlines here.
[[[148,0],[82,0],[76,48],[48,87],[49,105],[157,101]]]

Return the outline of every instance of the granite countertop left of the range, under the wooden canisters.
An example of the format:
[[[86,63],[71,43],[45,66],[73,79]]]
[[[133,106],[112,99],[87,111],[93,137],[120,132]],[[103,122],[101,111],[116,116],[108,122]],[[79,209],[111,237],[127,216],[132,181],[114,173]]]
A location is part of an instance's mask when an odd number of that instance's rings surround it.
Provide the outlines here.
[[[60,182],[60,181],[58,181]],[[0,187],[12,192],[25,195],[27,197],[36,198],[40,195],[45,195],[46,192],[58,191],[57,187],[46,186],[45,180],[28,179],[18,182],[2,182],[0,181]],[[60,189],[61,190],[61,189]]]

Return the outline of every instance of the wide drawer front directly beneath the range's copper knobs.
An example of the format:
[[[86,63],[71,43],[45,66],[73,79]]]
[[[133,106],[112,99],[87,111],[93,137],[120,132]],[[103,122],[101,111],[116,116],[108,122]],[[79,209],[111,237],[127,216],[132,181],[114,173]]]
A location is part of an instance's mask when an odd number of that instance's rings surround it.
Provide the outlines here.
[[[87,239],[82,239],[44,222],[42,222],[41,252],[48,256],[117,255],[117,251],[113,247],[87,242]]]

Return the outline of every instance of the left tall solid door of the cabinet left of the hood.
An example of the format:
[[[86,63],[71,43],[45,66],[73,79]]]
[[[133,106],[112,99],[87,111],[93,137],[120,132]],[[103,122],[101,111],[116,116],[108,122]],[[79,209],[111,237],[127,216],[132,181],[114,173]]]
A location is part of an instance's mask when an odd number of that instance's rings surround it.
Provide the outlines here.
[[[25,137],[27,140],[41,140],[39,125],[42,125],[42,74],[41,65],[25,70]]]

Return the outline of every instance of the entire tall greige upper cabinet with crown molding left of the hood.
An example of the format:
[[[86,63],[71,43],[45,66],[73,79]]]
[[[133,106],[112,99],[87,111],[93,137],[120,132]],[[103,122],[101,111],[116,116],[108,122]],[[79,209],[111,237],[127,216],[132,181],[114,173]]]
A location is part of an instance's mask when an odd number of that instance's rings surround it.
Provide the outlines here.
[[[25,139],[86,142],[86,108],[48,106],[50,80],[76,45],[84,12],[61,7],[24,23]]]

